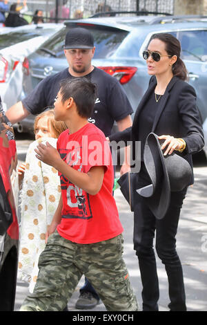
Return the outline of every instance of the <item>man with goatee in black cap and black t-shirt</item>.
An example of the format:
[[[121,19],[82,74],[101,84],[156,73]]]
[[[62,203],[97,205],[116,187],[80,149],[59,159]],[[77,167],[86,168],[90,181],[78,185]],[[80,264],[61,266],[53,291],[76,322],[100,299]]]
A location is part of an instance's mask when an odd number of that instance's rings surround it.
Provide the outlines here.
[[[26,118],[30,113],[38,114],[48,106],[53,106],[59,91],[61,80],[66,78],[87,77],[97,84],[97,100],[95,109],[89,121],[95,123],[105,136],[109,136],[114,122],[119,131],[132,125],[130,114],[132,107],[118,80],[104,71],[92,66],[91,60],[95,53],[94,39],[85,28],[72,28],[66,34],[64,53],[69,68],[46,77],[39,82],[35,89],[22,102],[14,104],[6,115],[10,122],[15,123]],[[124,162],[121,174],[130,167]],[[81,295],[77,301],[77,308],[93,308],[98,304],[99,296],[86,281],[81,288]]]

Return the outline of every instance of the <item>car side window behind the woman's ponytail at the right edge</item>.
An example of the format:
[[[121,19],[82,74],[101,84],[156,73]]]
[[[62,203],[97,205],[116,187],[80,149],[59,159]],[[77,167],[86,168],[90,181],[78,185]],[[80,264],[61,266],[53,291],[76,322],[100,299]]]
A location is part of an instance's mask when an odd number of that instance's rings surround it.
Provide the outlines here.
[[[183,59],[205,61],[207,55],[207,30],[179,32]]]

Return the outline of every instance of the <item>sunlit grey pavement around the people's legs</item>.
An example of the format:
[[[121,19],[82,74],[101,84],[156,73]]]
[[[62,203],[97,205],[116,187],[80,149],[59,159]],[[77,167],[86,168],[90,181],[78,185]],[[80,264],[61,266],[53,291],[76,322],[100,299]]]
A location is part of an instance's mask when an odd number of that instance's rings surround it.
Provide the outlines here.
[[[207,311],[207,167],[196,167],[195,184],[189,187],[179,221],[177,232],[177,251],[184,270],[186,287],[186,304],[188,311]],[[133,214],[128,203],[119,189],[115,190],[115,199],[119,210],[121,223],[124,227],[124,259],[130,274],[130,281],[141,308],[141,279],[137,257],[133,250]],[[164,265],[157,257],[157,270],[159,277],[159,310],[168,311],[168,280]],[[77,310],[75,303],[79,297],[79,288],[84,283],[81,278],[75,293],[68,301],[68,310],[73,312],[106,311],[100,303],[90,310]],[[14,310],[19,310],[23,299],[28,293],[28,286],[23,282],[17,283],[17,294]],[[81,315],[84,315],[82,313]]]

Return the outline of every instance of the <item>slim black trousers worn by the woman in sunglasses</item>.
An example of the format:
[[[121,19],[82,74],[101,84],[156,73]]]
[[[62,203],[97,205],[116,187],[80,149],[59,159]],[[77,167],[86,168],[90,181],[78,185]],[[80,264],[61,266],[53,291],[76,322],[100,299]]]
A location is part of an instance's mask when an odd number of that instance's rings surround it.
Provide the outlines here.
[[[143,310],[158,310],[159,281],[153,241],[158,257],[164,263],[168,276],[170,310],[186,310],[186,296],[181,262],[176,251],[177,225],[186,189],[171,192],[170,207],[163,219],[155,219],[144,198],[137,194],[134,213],[134,249],[136,251],[142,281]]]

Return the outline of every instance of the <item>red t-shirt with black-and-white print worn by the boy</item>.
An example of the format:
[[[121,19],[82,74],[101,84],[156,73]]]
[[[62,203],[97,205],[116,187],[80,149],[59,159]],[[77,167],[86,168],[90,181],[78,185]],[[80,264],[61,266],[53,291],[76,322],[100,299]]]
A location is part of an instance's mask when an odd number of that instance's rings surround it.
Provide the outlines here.
[[[79,131],[61,133],[57,140],[61,158],[72,168],[88,173],[91,167],[104,166],[102,187],[90,195],[60,174],[63,209],[57,231],[75,243],[97,243],[123,232],[115,198],[112,196],[114,171],[110,148],[103,132],[88,123]]]

